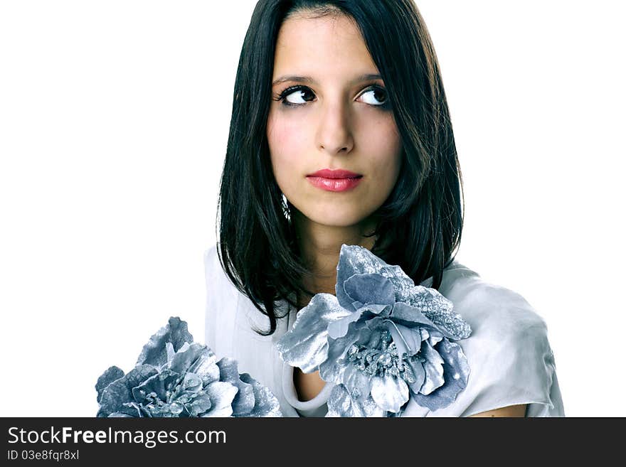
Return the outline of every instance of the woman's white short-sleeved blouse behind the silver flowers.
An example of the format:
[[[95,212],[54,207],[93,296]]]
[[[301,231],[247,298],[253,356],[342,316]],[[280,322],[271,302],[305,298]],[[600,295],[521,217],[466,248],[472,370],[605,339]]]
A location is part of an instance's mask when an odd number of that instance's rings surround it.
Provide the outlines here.
[[[218,358],[235,358],[239,372],[248,372],[267,386],[280,402],[285,417],[324,417],[334,383],[313,399],[298,400],[293,367],[282,362],[275,343],[295,323],[297,309],[289,307],[272,336],[260,336],[253,326],[269,328],[269,320],[241,294],[223,272],[216,246],[205,252],[206,345]],[[424,281],[428,286],[432,280]],[[431,412],[410,399],[402,417],[467,417],[516,404],[528,404],[526,417],[564,417],[554,355],[546,323],[514,291],[489,284],[452,262],[438,289],[472,328],[470,337],[455,341],[465,352],[470,376],[452,404]],[[279,304],[280,314],[288,306]]]

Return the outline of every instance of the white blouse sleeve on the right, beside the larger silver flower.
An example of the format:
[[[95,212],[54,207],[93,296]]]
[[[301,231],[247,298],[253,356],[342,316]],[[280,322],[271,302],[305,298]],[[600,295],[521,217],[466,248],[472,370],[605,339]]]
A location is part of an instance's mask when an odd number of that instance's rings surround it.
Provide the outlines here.
[[[460,341],[470,365],[461,415],[528,404],[526,417],[563,417],[546,322],[514,291],[474,285],[461,304],[472,326]]]

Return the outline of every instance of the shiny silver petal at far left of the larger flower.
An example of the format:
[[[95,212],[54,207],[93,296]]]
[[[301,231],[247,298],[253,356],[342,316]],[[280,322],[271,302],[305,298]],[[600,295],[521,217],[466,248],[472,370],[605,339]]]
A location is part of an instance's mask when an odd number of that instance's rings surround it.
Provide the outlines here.
[[[304,373],[317,370],[328,355],[329,323],[349,316],[331,294],[316,294],[297,314],[292,330],[276,343],[280,358]]]

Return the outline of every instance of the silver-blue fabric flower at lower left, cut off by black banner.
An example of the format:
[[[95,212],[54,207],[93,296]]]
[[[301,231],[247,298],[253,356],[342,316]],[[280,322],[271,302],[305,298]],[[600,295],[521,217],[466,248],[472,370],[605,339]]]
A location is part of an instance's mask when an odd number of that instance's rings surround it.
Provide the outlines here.
[[[133,370],[110,367],[95,389],[97,417],[282,417],[270,390],[193,343],[180,318],[150,338]]]

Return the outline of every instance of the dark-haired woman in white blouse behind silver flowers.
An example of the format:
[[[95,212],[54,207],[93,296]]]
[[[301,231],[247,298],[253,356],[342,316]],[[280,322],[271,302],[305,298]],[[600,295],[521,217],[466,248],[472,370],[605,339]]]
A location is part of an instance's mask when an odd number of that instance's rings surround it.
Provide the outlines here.
[[[411,0],[260,0],[240,56],[219,242],[206,253],[206,344],[323,416],[331,384],[275,343],[334,294],[342,244],[397,264],[470,323],[470,380],[405,416],[562,416],[546,326],[512,291],[454,261],[461,176],[433,45]]]

